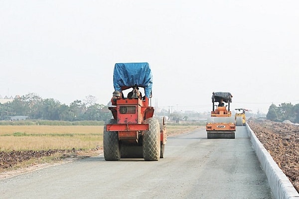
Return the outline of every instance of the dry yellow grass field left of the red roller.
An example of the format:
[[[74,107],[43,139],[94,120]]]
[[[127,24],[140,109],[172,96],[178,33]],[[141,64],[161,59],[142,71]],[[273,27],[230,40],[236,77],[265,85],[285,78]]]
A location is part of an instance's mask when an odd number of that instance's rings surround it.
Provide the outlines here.
[[[0,126],[0,151],[94,149],[103,144],[103,126]]]

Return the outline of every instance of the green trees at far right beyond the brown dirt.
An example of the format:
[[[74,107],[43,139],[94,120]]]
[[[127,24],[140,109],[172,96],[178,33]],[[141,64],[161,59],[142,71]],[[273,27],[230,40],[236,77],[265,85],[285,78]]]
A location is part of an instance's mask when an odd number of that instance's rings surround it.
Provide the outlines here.
[[[293,123],[299,123],[299,103],[282,103],[279,106],[271,104],[267,113],[267,119],[272,121],[290,120]]]

